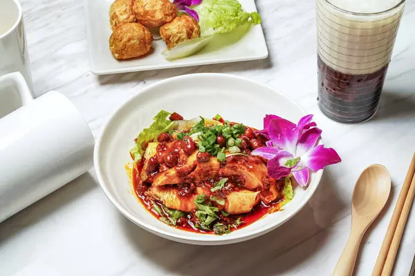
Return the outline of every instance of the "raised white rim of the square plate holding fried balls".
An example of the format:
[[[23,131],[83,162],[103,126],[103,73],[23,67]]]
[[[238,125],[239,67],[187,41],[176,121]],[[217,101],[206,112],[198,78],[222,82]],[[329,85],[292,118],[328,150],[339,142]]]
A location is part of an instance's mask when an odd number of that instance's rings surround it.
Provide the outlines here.
[[[112,68],[112,69],[102,69],[99,66],[95,66],[93,62],[93,48],[92,48],[92,30],[91,30],[91,18],[90,18],[90,11],[89,11],[89,2],[91,0],[84,0],[84,19],[85,19],[85,28],[86,28],[86,43],[88,48],[88,59],[89,59],[89,68],[93,75],[109,75],[109,74],[120,74],[120,73],[127,73],[127,72],[143,72],[149,70],[162,70],[162,69],[172,69],[172,68],[185,68],[190,66],[203,66],[203,65],[212,65],[212,64],[222,64],[222,63],[232,63],[232,62],[241,62],[241,61],[255,61],[260,59],[266,59],[269,55],[268,45],[266,43],[266,38],[264,34],[264,29],[262,23],[259,23],[257,26],[259,27],[259,32],[261,34],[261,41],[264,41],[264,52],[259,55],[246,55],[244,57],[237,57],[237,58],[208,58],[203,60],[196,60],[196,61],[183,61],[181,63],[166,63],[166,64],[153,64],[151,66],[129,66],[129,67],[122,67],[122,68]],[[255,11],[257,11],[257,3],[255,0],[252,0],[255,6]],[[257,27],[253,26],[253,27]]]

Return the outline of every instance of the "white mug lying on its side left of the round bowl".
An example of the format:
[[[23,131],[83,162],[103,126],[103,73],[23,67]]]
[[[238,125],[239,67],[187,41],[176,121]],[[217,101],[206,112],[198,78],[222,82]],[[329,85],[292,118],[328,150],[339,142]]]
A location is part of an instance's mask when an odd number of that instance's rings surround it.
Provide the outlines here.
[[[0,222],[89,170],[95,144],[71,101],[33,99],[19,72],[0,77],[0,112],[10,105],[21,107],[0,115]]]

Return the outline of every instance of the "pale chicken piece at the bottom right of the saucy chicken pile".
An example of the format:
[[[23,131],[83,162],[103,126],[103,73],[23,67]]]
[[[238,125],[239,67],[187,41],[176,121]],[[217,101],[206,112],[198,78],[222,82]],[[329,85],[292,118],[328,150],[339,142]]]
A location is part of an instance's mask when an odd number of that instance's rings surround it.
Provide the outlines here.
[[[248,213],[259,204],[259,192],[239,190],[226,196],[225,211],[230,214]]]

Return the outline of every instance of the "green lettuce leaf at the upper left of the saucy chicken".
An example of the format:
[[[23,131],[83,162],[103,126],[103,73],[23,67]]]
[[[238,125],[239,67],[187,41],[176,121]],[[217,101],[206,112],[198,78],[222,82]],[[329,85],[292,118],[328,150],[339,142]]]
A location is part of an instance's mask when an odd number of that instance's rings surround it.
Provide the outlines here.
[[[157,139],[158,135],[163,132],[168,132],[169,129],[173,128],[174,122],[167,119],[167,116],[170,115],[170,112],[165,110],[160,110],[156,116],[154,116],[153,124],[149,128],[145,128],[140,132],[136,139],[136,146],[130,150],[131,155],[134,158],[134,161],[140,161],[144,150],[142,150],[141,145],[151,139]]]

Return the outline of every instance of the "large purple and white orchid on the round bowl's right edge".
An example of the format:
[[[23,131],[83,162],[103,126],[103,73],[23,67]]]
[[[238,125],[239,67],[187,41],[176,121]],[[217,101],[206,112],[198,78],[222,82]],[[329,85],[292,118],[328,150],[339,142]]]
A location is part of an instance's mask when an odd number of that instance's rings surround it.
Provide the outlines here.
[[[296,125],[276,115],[266,115],[264,130],[257,133],[269,140],[266,141],[266,146],[252,151],[252,155],[268,159],[270,177],[279,179],[293,173],[298,184],[306,186],[310,169],[317,171],[342,161],[333,148],[315,146],[322,130],[316,127],[317,124],[311,121],[312,118],[313,115],[306,115]]]

